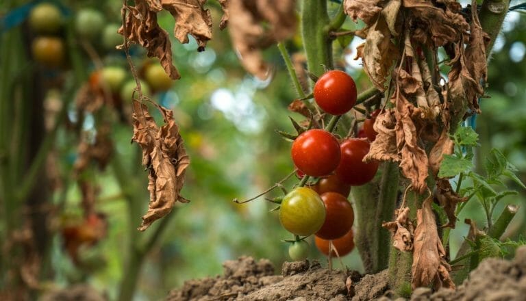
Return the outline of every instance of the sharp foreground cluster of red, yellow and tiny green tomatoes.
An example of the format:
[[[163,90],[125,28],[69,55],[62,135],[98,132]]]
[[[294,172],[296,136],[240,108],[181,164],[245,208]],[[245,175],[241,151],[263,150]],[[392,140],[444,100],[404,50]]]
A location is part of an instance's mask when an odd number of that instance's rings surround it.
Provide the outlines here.
[[[331,115],[349,112],[356,98],[352,77],[339,70],[328,71],[314,85],[316,104]],[[372,125],[376,115],[377,112],[364,122],[365,133],[371,133],[369,139],[338,141],[330,131],[310,129],[292,143],[292,161],[299,177],[318,178],[314,185],[297,187],[281,200],[279,220],[296,236],[289,247],[293,260],[308,257],[304,239],[313,234],[318,250],[326,255],[331,252],[331,256],[344,256],[353,250],[354,211],[347,197],[351,186],[368,183],[377,172],[376,161],[362,161],[369,151],[369,140],[375,138]]]

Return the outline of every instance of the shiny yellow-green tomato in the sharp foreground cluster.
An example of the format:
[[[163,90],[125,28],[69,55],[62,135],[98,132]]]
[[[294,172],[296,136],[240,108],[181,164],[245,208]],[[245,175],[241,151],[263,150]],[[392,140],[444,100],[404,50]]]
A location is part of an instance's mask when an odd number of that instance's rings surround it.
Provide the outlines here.
[[[298,187],[281,201],[279,221],[290,233],[308,236],[321,228],[325,214],[325,205],[320,196],[310,188]]]

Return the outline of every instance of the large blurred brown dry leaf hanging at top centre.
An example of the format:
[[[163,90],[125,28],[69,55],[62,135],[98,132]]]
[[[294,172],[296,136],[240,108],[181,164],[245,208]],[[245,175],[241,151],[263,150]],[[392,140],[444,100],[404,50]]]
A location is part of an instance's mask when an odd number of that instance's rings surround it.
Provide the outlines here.
[[[295,33],[295,8],[294,0],[229,0],[230,36],[249,73],[268,77],[261,50]]]

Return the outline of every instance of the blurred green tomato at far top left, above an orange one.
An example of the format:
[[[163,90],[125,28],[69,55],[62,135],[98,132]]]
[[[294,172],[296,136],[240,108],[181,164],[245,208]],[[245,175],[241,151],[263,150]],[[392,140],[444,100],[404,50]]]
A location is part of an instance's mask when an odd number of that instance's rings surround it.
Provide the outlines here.
[[[29,14],[29,27],[38,34],[56,34],[62,27],[62,12],[51,3],[35,5]]]

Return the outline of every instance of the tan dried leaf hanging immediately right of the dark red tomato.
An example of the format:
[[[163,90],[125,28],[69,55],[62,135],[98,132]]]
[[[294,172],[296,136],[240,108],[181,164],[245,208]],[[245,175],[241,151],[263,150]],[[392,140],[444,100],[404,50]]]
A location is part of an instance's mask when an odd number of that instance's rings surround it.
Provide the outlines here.
[[[371,143],[369,152],[364,157],[365,161],[401,160],[397,149],[395,124],[396,120],[392,110],[386,110],[377,116],[373,128],[378,134],[375,141]]]

